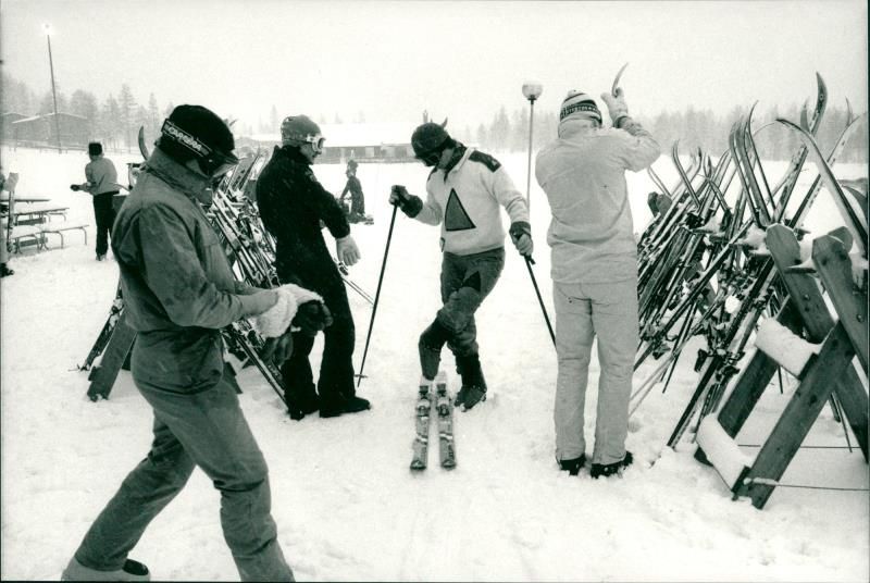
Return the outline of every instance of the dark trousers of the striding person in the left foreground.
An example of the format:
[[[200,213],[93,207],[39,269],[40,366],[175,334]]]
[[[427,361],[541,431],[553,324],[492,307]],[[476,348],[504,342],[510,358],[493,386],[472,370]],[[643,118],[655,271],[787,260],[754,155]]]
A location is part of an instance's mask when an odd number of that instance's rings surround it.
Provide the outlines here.
[[[134,367],[136,357],[134,355]],[[233,388],[223,380],[196,394],[136,380],[154,410],[148,457],[124,480],[85,535],[75,558],[121,569],[148,524],[199,466],[221,493],[221,525],[243,581],[293,581],[271,514],[269,473]],[[166,542],[172,551],[172,541]]]

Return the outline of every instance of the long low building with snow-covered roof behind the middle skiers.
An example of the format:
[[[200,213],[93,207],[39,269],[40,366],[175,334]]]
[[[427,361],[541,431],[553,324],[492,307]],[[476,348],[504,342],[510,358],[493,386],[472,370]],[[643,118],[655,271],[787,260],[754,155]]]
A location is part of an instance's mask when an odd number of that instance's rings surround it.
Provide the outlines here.
[[[358,162],[413,162],[411,148],[413,124],[401,123],[359,123],[319,124],[326,138],[323,154],[319,162],[345,163],[350,159]],[[281,145],[281,134],[257,134],[241,136],[236,146],[272,149]]]

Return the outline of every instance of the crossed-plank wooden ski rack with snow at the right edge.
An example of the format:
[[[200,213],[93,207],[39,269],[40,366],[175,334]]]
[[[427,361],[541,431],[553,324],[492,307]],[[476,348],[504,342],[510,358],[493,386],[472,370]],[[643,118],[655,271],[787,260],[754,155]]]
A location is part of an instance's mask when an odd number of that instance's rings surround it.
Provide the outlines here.
[[[770,226],[766,241],[788,290],[788,300],[776,320],[794,334],[820,345],[818,356],[807,361],[799,373],[797,389],[758,455],[749,460],[741,457],[733,439],[780,367],[774,358],[756,350],[716,419],[709,415],[701,422],[695,456],[713,464],[735,499],[749,497],[759,509],[770,498],[832,396],[842,408],[865,461],[868,460],[868,393],[853,365],[857,356],[867,374],[867,274],[858,288],[853,282],[848,256],[852,235],[841,227],[817,238],[812,246],[812,260],[836,311],[836,322],[812,275],[788,269],[800,263],[794,232],[783,225]]]

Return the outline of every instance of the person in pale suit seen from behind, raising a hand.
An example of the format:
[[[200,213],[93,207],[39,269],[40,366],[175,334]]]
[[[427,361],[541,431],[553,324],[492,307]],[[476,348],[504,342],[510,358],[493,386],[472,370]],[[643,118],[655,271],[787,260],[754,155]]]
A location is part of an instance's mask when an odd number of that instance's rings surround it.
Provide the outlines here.
[[[556,459],[571,475],[586,462],[583,413],[593,339],[601,373],[592,476],[632,462],[625,450],[629,397],[637,348],[637,247],[625,171],[659,157],[659,145],[629,117],[622,90],[605,94],[612,128],[587,95],[562,101],[558,138],[537,154],[535,175],[549,199],[552,222],[552,297],[556,307]]]

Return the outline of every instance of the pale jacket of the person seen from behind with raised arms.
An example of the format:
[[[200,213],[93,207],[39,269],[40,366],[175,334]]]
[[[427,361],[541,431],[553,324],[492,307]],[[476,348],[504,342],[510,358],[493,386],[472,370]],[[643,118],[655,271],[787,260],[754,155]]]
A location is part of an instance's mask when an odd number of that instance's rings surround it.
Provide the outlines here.
[[[625,171],[641,171],[660,148],[641,124],[625,129],[566,124],[544,147],[535,177],[549,199],[547,243],[558,283],[621,282],[637,275],[637,246]]]

